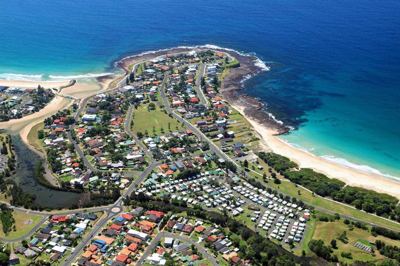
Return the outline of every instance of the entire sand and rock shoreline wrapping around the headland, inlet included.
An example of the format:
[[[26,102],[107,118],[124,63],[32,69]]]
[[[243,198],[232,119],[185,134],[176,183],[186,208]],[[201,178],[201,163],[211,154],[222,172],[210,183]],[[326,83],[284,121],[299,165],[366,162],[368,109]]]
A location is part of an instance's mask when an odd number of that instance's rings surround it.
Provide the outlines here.
[[[198,46],[198,47],[180,47],[180,48],[171,48],[166,50],[159,50],[159,51],[152,51],[152,52],[145,52],[143,54],[135,55],[135,56],[128,56],[116,62],[117,66],[124,70],[126,74],[130,72],[129,66],[135,64],[137,62],[148,60],[154,58],[156,56],[166,55],[166,54],[174,54],[180,52],[189,52],[189,51],[199,51],[199,50],[218,50],[220,52],[225,52],[233,57],[236,58],[240,62],[240,66],[236,68],[230,69],[230,73],[223,79],[220,94],[228,101],[228,103],[234,108],[237,109],[244,117],[249,121],[255,131],[260,135],[262,141],[260,141],[261,147],[266,151],[273,151],[280,155],[286,156],[290,158],[292,161],[299,164],[300,167],[306,167],[314,169],[319,173],[323,173],[330,178],[337,178],[344,181],[347,185],[352,185],[356,187],[362,187],[365,189],[371,189],[380,193],[388,193],[390,195],[394,195],[400,199],[400,183],[395,181],[386,180],[384,178],[380,178],[375,176],[372,173],[363,173],[356,169],[346,167],[345,165],[340,165],[338,163],[334,163],[332,161],[325,160],[320,157],[316,157],[310,153],[302,151],[300,149],[296,149],[295,147],[290,146],[288,143],[285,143],[281,139],[276,137],[277,135],[286,134],[289,132],[290,128],[278,123],[274,120],[274,118],[269,115],[268,113],[264,112],[264,106],[260,103],[260,99],[256,99],[254,97],[248,97],[246,94],[240,94],[240,90],[243,87],[243,79],[246,77],[256,75],[260,71],[266,70],[262,66],[260,66],[260,62],[258,62],[258,58],[254,56],[243,55],[238,52],[232,50],[226,50],[224,48],[210,48],[206,46]],[[120,78],[120,77],[118,77]],[[101,87],[101,90],[107,89],[108,85],[116,80],[115,76],[106,75],[104,77],[98,77],[96,79],[97,84]],[[18,82],[22,82],[20,84],[36,83],[39,84],[40,82],[31,82],[31,81],[8,81],[9,84],[13,84],[14,86],[19,85]],[[63,84],[60,84],[63,83]],[[64,85],[68,83],[66,82],[57,82],[57,84],[47,83],[46,85]],[[25,85],[26,86],[26,85]],[[36,85],[37,86],[37,85]],[[71,87],[63,89],[63,93],[66,94],[73,94],[74,91],[82,92],[81,97],[86,97],[89,94],[87,93],[84,95],[84,92],[87,90],[82,89],[79,84],[75,84]],[[65,90],[65,91],[64,91]],[[100,92],[100,91],[98,91]],[[96,92],[97,93],[97,92]],[[68,106],[65,104],[65,98],[60,96],[56,96],[53,101],[51,101],[44,109],[35,113],[36,116],[29,116],[31,118],[30,123],[21,129],[19,132],[21,135],[22,140],[24,143],[30,147],[30,149],[37,151],[32,145],[28,143],[28,133],[30,129],[36,125],[43,119],[44,115],[40,113],[46,113],[46,117],[52,115],[56,111],[63,109],[65,107],[60,106]],[[72,103],[70,100],[69,105]],[[45,112],[42,112],[46,109]],[[45,118],[45,117],[44,117]],[[18,119],[15,122],[20,122],[21,119]],[[8,121],[10,122],[10,121]],[[7,123],[8,123],[7,122]],[[0,123],[0,128],[2,127],[3,123]]]

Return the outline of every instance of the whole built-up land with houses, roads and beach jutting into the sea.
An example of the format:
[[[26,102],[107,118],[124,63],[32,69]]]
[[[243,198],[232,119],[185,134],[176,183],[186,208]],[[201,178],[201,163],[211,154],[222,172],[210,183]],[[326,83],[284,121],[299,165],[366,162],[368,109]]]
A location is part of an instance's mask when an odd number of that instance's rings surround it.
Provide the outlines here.
[[[400,185],[277,139],[289,129],[240,93],[258,63],[207,47],[131,56],[117,62],[124,75],[77,81],[29,119],[1,123],[2,159],[17,163],[0,174],[10,264],[398,260]],[[78,201],[21,191],[16,133],[39,155],[37,185]]]

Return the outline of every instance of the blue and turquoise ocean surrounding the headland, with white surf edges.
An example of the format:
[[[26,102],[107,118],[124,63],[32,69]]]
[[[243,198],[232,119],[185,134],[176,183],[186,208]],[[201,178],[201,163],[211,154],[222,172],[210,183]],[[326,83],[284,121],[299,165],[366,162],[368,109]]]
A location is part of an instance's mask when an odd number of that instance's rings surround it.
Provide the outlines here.
[[[254,53],[270,71],[243,92],[298,128],[281,139],[400,177],[398,0],[62,2],[0,2],[0,79],[91,78],[176,46]]]

